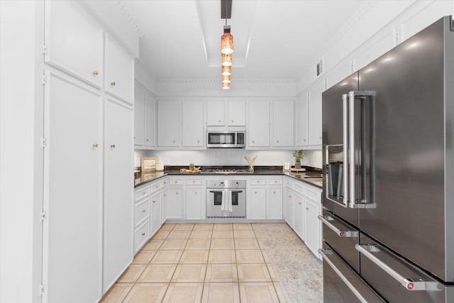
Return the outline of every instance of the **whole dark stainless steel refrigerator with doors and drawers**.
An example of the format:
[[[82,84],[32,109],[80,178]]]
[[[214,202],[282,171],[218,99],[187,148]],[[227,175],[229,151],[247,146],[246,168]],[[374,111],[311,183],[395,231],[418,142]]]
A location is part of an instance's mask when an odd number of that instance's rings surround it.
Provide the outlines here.
[[[454,28],[323,92],[324,302],[454,302]]]

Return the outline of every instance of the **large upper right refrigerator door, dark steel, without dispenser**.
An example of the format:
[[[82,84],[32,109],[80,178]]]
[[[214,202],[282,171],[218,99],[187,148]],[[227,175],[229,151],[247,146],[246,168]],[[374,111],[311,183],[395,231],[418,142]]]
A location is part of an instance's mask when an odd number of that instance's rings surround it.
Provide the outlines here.
[[[453,230],[445,229],[453,197],[445,197],[444,179],[453,170],[445,172],[445,144],[452,145],[445,133],[453,132],[444,111],[453,100],[445,100],[443,86],[445,71],[454,68],[452,53],[444,59],[445,45],[453,45],[449,22],[433,23],[359,72],[360,89],[376,92],[376,207],[360,209],[360,228],[453,282],[453,252],[446,254],[454,247]]]

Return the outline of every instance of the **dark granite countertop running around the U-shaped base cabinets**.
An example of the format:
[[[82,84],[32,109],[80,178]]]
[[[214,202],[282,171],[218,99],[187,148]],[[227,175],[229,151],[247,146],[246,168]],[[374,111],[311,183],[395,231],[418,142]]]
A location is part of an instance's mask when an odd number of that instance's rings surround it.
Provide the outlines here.
[[[306,168],[306,172],[283,172],[282,166],[255,166],[254,172],[236,172],[231,174],[213,174],[213,173],[204,173],[203,169],[206,167],[202,167],[202,172],[181,172],[181,168],[187,167],[179,167],[179,166],[167,166],[163,172],[135,172],[134,174],[134,187],[138,187],[140,185],[146,184],[148,182],[152,182],[155,180],[160,179],[161,177],[165,177],[167,175],[204,175],[204,176],[219,176],[219,175],[247,175],[247,176],[262,176],[262,175],[287,175],[289,177],[294,178],[295,180],[300,180],[302,182],[306,182],[308,184],[314,185],[315,187],[322,188],[322,179],[321,177],[321,169],[316,167],[304,167]]]

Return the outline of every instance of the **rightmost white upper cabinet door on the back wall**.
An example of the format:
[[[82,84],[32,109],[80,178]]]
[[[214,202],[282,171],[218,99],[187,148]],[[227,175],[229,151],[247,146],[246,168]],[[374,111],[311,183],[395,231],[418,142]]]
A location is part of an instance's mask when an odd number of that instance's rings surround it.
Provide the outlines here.
[[[272,101],[273,146],[293,147],[294,101]]]

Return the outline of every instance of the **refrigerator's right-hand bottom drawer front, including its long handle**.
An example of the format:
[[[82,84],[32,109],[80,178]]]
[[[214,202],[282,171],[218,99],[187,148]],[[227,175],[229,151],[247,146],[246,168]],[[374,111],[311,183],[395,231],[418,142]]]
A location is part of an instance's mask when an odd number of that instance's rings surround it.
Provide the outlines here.
[[[444,285],[362,233],[360,243],[361,277],[388,302],[448,302]]]

